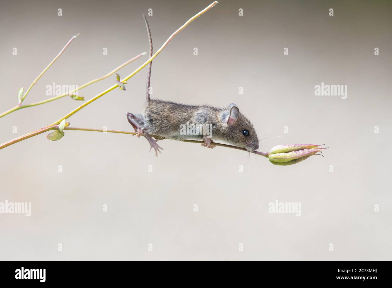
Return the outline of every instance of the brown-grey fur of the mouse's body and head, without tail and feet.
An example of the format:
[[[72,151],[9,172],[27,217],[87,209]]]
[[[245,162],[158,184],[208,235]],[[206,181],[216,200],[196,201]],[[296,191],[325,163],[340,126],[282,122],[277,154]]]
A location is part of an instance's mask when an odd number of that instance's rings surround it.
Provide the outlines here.
[[[233,121],[229,121],[231,110],[238,111]],[[181,135],[181,124],[185,125],[187,122],[194,125],[211,124],[213,141],[225,141],[250,151],[259,148],[259,140],[252,123],[239,112],[234,103],[226,108],[218,108],[206,104],[186,105],[151,99],[147,102],[143,113],[136,116],[136,122],[142,127],[143,132],[152,135],[174,140],[203,139],[205,135]],[[231,118],[233,117],[232,115]],[[247,130],[249,136],[244,136],[243,130]]]

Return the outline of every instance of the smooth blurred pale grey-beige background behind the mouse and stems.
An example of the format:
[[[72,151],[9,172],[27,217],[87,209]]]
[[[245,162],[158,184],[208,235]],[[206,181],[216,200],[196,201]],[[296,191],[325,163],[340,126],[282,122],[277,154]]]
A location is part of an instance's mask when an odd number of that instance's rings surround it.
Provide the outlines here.
[[[148,51],[141,11],[153,9],[156,51],[211,2],[2,0],[0,110],[15,106],[18,89],[27,89],[72,35],[81,33],[24,103],[46,99],[47,84],[82,85]],[[391,260],[391,16],[391,1],[221,0],[154,60],[152,97],[234,102],[265,137],[260,150],[325,143],[325,159],[279,167],[246,152],[171,140],[160,141],[165,150],[156,158],[145,139],[128,135],[66,131],[52,142],[42,134],[0,151],[0,202],[32,203],[31,217],[0,214],[0,259]],[[142,110],[145,76],[144,69],[127,91],[82,109],[71,126],[131,130],[125,113]],[[90,99],[114,79],[79,94]],[[315,96],[321,82],[348,85],[347,99]],[[62,98],[9,114],[0,119],[0,142],[80,104]],[[301,217],[269,214],[275,200],[301,202]]]

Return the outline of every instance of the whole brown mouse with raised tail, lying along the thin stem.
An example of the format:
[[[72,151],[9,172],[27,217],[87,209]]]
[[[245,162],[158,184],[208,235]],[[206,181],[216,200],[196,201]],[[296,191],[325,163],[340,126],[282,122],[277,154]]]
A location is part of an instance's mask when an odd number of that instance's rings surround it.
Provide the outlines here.
[[[152,38],[146,16],[143,14],[152,57]],[[138,137],[144,136],[151,149],[162,153],[158,145],[161,139],[202,139],[204,147],[213,149],[214,141],[225,141],[250,152],[259,149],[259,138],[252,123],[243,115],[238,106],[230,103],[219,108],[211,105],[186,105],[172,101],[150,98],[152,62],[148,65],[146,84],[146,105],[142,113],[127,112],[127,120]],[[189,129],[191,127],[191,129]],[[154,136],[154,138],[153,138]]]

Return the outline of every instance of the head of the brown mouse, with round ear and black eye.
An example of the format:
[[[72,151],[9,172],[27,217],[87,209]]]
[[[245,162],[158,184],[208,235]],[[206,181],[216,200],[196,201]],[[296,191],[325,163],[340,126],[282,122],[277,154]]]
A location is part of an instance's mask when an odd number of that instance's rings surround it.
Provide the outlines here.
[[[254,151],[259,149],[259,138],[253,128],[252,123],[240,114],[237,105],[231,103],[228,107],[229,114],[223,118],[223,123],[226,124],[226,141],[232,142],[238,147]]]

